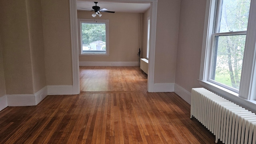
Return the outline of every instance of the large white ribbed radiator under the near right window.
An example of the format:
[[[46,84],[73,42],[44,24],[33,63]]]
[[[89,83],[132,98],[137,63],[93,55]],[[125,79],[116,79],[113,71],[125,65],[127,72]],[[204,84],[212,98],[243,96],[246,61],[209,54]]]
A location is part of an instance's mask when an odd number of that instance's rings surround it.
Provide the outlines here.
[[[256,115],[204,88],[192,88],[190,118],[225,144],[256,144]]]

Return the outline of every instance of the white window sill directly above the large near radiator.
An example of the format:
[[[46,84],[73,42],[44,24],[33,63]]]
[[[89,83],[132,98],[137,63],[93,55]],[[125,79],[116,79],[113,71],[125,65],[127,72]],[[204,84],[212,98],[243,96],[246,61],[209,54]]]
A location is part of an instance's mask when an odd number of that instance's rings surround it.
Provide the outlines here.
[[[256,100],[246,100],[238,96],[238,93],[228,90],[226,88],[222,88],[216,84],[213,84],[208,81],[199,80],[199,84],[202,85],[204,88],[218,94],[219,96],[234,102],[235,104],[242,106],[254,113],[256,113]]]

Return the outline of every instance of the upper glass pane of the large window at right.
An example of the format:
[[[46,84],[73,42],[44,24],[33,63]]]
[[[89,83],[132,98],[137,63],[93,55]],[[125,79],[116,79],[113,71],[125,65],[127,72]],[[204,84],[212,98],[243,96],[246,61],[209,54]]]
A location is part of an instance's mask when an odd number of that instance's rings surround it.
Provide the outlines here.
[[[246,31],[250,0],[222,0],[217,32]]]

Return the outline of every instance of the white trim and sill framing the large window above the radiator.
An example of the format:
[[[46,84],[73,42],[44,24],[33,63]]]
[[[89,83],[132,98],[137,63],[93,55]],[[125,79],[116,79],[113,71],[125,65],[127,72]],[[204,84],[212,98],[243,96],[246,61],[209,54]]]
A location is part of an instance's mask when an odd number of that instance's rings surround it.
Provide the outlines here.
[[[242,66],[239,93],[232,92],[226,88],[217,86],[208,81],[210,67],[211,40],[214,28],[214,13],[216,0],[207,0],[204,22],[204,34],[202,42],[202,54],[200,63],[199,83],[213,92],[227,97],[228,99],[250,107],[256,111],[256,1],[251,0],[250,14],[248,20],[246,44]],[[250,102],[249,102],[250,101]],[[255,104],[253,104],[253,103]]]

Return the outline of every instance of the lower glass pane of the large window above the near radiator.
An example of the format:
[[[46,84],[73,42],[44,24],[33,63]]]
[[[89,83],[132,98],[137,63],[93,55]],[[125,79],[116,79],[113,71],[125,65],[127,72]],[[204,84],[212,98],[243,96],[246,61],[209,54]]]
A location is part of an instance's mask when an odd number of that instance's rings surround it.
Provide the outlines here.
[[[246,35],[215,36],[210,79],[239,89]]]

